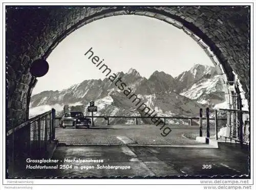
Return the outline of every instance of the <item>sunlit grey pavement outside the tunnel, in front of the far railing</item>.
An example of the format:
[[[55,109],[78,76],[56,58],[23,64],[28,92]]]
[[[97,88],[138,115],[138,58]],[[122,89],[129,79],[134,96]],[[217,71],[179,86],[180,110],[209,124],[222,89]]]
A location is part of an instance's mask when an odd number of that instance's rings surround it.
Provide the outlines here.
[[[161,135],[160,127],[155,125],[101,126],[87,128],[56,128],[56,139],[66,144],[104,144],[104,145],[180,145],[200,144],[187,139],[184,133],[199,133],[198,126],[172,125],[166,137]],[[212,129],[214,130],[214,129]]]

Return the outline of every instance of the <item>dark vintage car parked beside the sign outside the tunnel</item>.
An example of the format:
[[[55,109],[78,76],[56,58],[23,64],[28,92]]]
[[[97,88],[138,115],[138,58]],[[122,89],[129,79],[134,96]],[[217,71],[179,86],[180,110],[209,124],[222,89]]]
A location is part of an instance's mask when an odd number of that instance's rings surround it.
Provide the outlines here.
[[[78,128],[79,126],[87,126],[90,127],[91,119],[83,116],[82,112],[67,112],[63,114],[59,121],[59,125],[62,128],[66,128],[67,126],[72,126]]]

